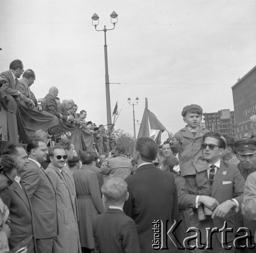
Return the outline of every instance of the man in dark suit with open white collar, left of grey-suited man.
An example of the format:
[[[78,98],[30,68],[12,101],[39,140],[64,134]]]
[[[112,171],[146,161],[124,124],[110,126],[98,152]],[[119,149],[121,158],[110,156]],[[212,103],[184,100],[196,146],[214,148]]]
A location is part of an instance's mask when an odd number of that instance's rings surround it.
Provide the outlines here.
[[[32,207],[22,179],[20,178],[20,174],[26,171],[28,155],[23,146],[13,144],[9,144],[3,153],[11,155],[17,164],[17,175],[12,185],[1,194],[2,200],[10,211],[10,250],[11,252],[15,252],[19,248],[27,246],[28,252],[33,253],[35,252],[35,243]]]

